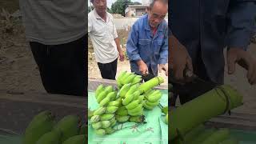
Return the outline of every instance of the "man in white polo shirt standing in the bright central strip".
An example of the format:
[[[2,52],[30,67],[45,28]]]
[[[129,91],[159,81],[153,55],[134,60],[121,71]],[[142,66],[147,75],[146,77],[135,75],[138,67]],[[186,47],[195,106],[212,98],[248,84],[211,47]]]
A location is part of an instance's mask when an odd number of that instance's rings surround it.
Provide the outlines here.
[[[124,60],[114,18],[106,12],[106,0],[91,0],[94,10],[88,14],[88,34],[102,78],[115,79],[118,56]]]

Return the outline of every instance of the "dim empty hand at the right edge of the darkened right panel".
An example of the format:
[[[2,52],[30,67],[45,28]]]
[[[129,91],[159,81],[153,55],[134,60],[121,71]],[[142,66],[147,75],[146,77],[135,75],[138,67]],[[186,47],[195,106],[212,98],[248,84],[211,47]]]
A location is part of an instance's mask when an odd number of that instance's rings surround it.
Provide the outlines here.
[[[230,48],[227,51],[228,74],[234,74],[236,63],[247,70],[248,82],[254,85],[256,83],[256,60],[247,51]]]

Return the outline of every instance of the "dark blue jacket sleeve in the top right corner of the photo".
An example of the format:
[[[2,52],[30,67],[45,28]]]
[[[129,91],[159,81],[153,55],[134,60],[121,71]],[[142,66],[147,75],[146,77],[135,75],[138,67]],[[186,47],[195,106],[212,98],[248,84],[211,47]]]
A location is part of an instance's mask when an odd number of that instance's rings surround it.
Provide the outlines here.
[[[235,0],[230,3],[227,46],[243,50],[250,44],[254,34],[256,18],[256,0]]]

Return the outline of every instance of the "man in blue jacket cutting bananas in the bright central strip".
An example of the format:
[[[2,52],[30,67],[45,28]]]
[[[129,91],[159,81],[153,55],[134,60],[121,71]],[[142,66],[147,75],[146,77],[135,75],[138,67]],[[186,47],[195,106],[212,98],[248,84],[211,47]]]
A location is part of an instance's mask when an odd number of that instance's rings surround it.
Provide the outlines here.
[[[154,0],[150,3],[148,14],[132,26],[126,51],[131,71],[135,74],[156,76],[159,69],[159,72],[165,70],[168,75],[168,26],[164,20],[167,10],[167,0]]]

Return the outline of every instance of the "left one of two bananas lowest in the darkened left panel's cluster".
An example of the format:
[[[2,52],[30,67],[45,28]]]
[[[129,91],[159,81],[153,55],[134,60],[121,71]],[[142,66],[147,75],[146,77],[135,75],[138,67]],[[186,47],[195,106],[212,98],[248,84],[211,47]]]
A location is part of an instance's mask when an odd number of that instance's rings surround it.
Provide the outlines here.
[[[38,139],[36,144],[59,144],[61,142],[61,132],[52,130]]]

